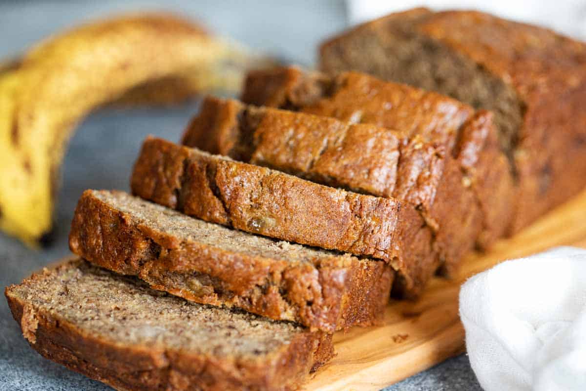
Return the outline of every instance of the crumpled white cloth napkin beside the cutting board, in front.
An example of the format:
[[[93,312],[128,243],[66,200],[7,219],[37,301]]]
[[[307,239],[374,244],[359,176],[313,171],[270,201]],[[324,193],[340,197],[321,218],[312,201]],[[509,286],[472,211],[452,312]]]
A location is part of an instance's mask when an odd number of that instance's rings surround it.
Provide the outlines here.
[[[586,390],[586,250],[558,247],[470,278],[460,317],[486,391]]]

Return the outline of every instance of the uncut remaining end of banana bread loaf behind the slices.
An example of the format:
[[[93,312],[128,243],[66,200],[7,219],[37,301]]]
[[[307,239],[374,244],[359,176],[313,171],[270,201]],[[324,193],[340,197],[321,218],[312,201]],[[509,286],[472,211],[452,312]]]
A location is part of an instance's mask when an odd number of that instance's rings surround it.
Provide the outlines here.
[[[586,185],[586,45],[482,12],[418,8],[323,43],[328,73],[359,70],[495,113],[518,181],[517,232]]]

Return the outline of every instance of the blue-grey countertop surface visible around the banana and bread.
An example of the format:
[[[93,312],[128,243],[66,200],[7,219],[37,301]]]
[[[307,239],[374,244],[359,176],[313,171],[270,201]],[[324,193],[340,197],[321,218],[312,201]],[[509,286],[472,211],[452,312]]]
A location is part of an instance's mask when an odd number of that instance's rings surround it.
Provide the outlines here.
[[[49,33],[118,10],[158,9],[154,1],[0,2],[0,57],[22,52]],[[166,9],[206,21],[213,30],[249,46],[312,64],[317,43],[345,27],[338,1],[169,1]],[[67,234],[77,198],[87,188],[128,189],[142,139],[154,134],[178,140],[197,103],[173,108],[107,110],[90,115],[71,140],[57,207],[56,241],[30,250],[0,233],[0,286],[67,256]],[[64,369],[33,351],[0,300],[0,390],[106,390],[107,386]],[[465,355],[449,359],[387,390],[481,390]]]

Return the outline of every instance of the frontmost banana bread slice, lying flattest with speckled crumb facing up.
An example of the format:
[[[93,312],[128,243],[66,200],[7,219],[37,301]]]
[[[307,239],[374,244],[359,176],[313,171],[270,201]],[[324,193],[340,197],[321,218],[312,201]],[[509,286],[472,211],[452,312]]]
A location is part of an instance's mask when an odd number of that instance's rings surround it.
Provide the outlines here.
[[[332,335],[190,303],[73,260],[5,291],[30,346],[118,390],[291,390]]]

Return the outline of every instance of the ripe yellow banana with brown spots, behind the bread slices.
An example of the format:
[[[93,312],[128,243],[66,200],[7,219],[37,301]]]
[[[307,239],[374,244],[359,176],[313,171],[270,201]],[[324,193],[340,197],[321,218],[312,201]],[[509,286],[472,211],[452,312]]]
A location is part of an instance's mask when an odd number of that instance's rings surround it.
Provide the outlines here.
[[[0,229],[30,246],[50,232],[64,152],[94,108],[236,90],[243,69],[264,61],[159,13],[99,21],[41,42],[0,74]]]

